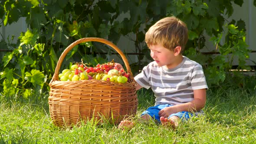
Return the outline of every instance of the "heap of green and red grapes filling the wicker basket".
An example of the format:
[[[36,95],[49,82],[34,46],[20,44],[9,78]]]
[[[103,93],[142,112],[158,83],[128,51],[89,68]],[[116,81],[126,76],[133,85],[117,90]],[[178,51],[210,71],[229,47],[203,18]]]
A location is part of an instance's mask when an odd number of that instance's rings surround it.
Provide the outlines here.
[[[126,83],[130,81],[130,74],[124,69],[115,66],[112,62],[90,66],[83,62],[73,62],[70,69],[62,70],[59,74],[61,81],[79,81],[79,80],[104,80],[109,82]]]

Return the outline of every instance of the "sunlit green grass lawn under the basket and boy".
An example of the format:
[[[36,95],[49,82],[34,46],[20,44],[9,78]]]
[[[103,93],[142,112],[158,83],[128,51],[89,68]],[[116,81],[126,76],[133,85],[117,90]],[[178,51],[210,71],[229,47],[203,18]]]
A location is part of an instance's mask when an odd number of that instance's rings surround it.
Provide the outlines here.
[[[144,89],[138,99],[137,115],[154,104]],[[60,129],[51,121],[47,100],[40,105],[0,104],[0,144],[256,144],[256,94],[239,90],[208,90],[205,115],[184,121],[177,130],[149,122],[122,131],[93,121]]]

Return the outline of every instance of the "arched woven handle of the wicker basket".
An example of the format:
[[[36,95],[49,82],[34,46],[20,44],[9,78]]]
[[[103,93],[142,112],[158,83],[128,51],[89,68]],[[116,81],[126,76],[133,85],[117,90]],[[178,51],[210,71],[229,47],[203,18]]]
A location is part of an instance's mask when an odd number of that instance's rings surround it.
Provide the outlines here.
[[[55,72],[53,75],[53,79],[51,80],[50,83],[52,83],[52,81],[58,80],[59,79],[59,69],[60,66],[63,62],[63,59],[66,57],[66,55],[68,54],[68,52],[73,49],[73,47],[75,47],[76,45],[78,45],[79,43],[85,43],[85,42],[90,42],[90,41],[94,41],[94,42],[100,42],[100,43],[105,43],[108,46],[111,46],[113,49],[115,49],[115,51],[118,52],[118,54],[121,56],[122,60],[125,62],[125,66],[127,69],[127,72],[130,73],[131,77],[133,77],[132,73],[131,73],[131,68],[129,65],[128,60],[125,57],[125,54],[112,42],[106,40],[106,39],[102,39],[102,38],[96,38],[96,37],[89,37],[89,38],[82,38],[82,39],[78,39],[75,42],[71,43],[61,54],[61,56],[59,57],[58,63],[56,65],[55,68]]]

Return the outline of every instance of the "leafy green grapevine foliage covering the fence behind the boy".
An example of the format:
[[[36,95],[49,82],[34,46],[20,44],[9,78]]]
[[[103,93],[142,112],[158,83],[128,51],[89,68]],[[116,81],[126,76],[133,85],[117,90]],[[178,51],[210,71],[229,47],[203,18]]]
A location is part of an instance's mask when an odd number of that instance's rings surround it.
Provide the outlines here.
[[[101,37],[118,43],[121,36],[135,44],[138,62],[131,63],[134,75],[151,60],[144,43],[148,28],[165,16],[177,16],[189,29],[189,42],[184,55],[203,65],[209,86],[225,83],[232,62],[238,59],[237,69],[249,69],[246,59],[249,50],[245,43],[243,20],[226,21],[233,13],[232,3],[243,5],[243,0],[5,0],[0,1],[0,18],[4,26],[26,18],[28,29],[17,43],[2,40],[1,47],[11,52],[0,55],[0,92],[28,98],[48,91],[56,63],[64,49],[83,37]],[[254,1],[255,4],[255,1]],[[134,37],[129,37],[134,34]],[[216,46],[219,56],[203,55],[206,35]],[[224,43],[220,43],[224,39]],[[113,49],[99,43],[82,43],[72,49],[62,62],[102,63]],[[145,60],[146,59],[146,60]],[[242,78],[242,77],[240,77]],[[236,87],[235,87],[236,88]],[[10,95],[9,95],[10,96]]]

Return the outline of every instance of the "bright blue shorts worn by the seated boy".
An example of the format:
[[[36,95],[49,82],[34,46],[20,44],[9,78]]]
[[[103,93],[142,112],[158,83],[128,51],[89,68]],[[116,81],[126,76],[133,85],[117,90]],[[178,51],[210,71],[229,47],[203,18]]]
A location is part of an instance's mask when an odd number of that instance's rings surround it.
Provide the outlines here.
[[[155,106],[149,107],[146,111],[143,111],[141,116],[147,114],[147,115],[150,115],[155,120],[157,120],[158,122],[161,122],[160,121],[160,116],[158,115],[158,112],[163,108],[171,107],[171,106],[173,106],[173,105],[169,105],[169,104],[155,105]],[[171,118],[172,116],[177,116],[182,120],[187,120],[188,118],[193,116],[193,113],[188,112],[188,111],[181,111],[181,112],[177,112],[175,114],[169,115],[168,118]]]

